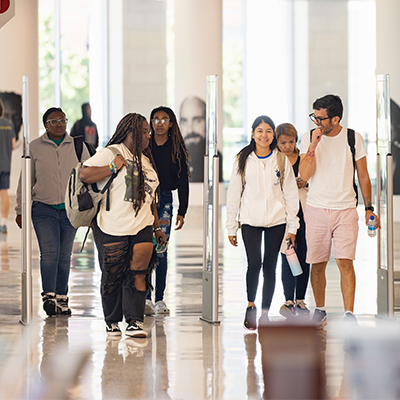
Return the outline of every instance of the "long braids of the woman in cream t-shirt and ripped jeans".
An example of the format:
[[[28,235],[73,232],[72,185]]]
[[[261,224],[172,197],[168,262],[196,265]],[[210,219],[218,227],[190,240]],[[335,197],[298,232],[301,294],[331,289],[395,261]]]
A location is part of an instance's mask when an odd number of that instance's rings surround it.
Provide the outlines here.
[[[139,174],[139,182],[137,187],[135,187],[132,182],[132,191],[133,191],[132,199],[133,199],[133,209],[135,210],[135,215],[138,214],[146,198],[142,157],[141,157],[142,154],[144,154],[150,160],[152,167],[154,168],[155,171],[157,171],[150,149],[148,147],[146,149],[142,148],[144,121],[146,121],[146,118],[140,114],[130,113],[125,115],[125,117],[123,117],[121,121],[119,121],[114,135],[106,144],[107,147],[112,144],[123,143],[127,138],[127,136],[129,135],[129,133],[131,132],[133,133],[132,135],[133,163],[134,165],[136,165]],[[137,193],[135,193],[136,190]],[[156,191],[156,201],[158,201],[158,190]]]

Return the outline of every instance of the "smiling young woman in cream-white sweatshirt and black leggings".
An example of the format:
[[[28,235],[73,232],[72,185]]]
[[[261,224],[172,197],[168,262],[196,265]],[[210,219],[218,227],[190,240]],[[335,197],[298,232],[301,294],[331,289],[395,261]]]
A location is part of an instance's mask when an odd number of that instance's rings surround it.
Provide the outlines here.
[[[290,161],[276,149],[275,124],[271,118],[265,115],[257,117],[251,136],[250,144],[238,153],[233,165],[226,203],[226,228],[233,246],[237,246],[239,226],[242,230],[247,255],[248,300],[244,327],[255,330],[257,309],[254,301],[260,270],[262,267],[264,276],[259,321],[262,324],[268,321],[275,290],[277,257],[286,225],[286,238],[295,243],[299,227],[299,195]]]

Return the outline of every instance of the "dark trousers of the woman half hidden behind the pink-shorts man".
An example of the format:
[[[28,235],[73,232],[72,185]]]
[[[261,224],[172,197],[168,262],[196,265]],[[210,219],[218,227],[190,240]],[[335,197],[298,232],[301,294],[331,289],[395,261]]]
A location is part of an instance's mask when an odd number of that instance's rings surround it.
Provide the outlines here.
[[[306,263],[306,224],[304,223],[303,211],[300,208],[297,214],[300,221],[300,227],[296,234],[296,242],[294,249],[299,259],[303,273],[298,276],[293,276],[289,267],[286,255],[281,253],[282,256],[282,284],[286,301],[304,300],[308,285],[308,278],[310,277],[310,264]]]

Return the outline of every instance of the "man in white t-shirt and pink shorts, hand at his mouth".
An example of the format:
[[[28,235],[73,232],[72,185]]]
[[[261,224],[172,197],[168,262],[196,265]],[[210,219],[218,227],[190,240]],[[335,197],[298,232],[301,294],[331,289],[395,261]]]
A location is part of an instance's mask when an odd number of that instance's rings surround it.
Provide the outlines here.
[[[340,271],[340,286],[345,321],[357,321],[353,315],[356,279],[355,259],[358,214],[353,187],[353,159],[348,131],[340,125],[343,104],[339,96],[326,95],[313,104],[311,120],[317,125],[304,134],[300,147],[301,178],[309,182],[304,219],[306,222],[307,262],[312,264],[311,286],[316,309],[313,321],[322,329],[327,324],[325,310],[325,269],[333,239],[334,255]],[[354,132],[355,169],[365,204],[365,224],[371,216],[380,227],[371,203],[371,181],[367,169],[367,152],[362,136]]]

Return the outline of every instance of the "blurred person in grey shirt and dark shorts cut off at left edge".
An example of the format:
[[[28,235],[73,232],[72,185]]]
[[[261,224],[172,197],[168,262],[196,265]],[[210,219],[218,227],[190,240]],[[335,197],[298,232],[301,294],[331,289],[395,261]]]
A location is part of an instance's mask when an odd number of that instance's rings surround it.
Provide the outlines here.
[[[7,218],[10,210],[8,189],[10,188],[11,154],[15,149],[13,124],[4,118],[4,104],[0,99],[0,233],[7,233]]]

